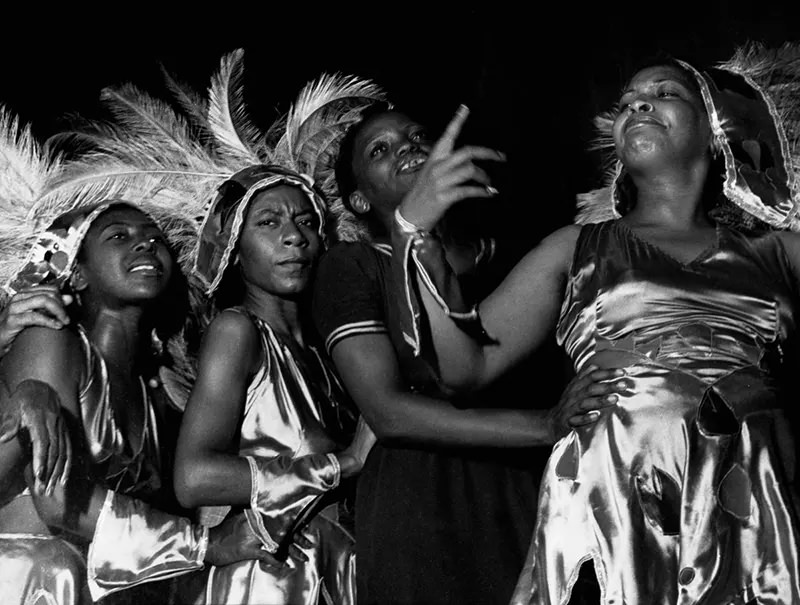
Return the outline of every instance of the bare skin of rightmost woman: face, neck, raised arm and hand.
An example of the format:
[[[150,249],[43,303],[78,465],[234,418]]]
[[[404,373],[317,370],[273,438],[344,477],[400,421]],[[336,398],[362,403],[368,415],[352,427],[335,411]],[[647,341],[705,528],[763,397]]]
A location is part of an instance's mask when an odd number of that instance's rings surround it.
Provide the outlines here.
[[[679,68],[649,67],[631,79],[620,107],[613,128],[617,157],[637,193],[634,208],[620,220],[662,253],[689,262],[716,237],[702,204],[712,156],[699,91]],[[431,152],[431,169],[426,165],[419,186],[402,202],[400,213],[419,228],[433,228],[462,199],[453,193],[461,181],[452,177],[466,117],[456,114]],[[569,225],[546,237],[480,303],[483,324],[497,341],[490,346],[466,338],[421,288],[445,384],[458,390],[490,384],[544,342],[558,318],[579,230]],[[800,276],[800,235],[776,235]],[[600,368],[612,363],[603,354],[590,361]]]

